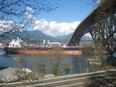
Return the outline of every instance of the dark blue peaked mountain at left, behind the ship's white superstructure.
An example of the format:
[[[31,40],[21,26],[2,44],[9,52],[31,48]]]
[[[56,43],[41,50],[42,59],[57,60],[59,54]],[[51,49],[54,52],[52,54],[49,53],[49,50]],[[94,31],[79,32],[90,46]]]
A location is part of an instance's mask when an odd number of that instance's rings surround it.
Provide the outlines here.
[[[34,30],[34,31],[15,31],[12,33],[9,33],[5,39],[13,39],[16,37],[19,37],[25,41],[42,41],[42,40],[50,40],[50,41],[57,41],[56,38],[46,35],[42,33],[40,30]]]

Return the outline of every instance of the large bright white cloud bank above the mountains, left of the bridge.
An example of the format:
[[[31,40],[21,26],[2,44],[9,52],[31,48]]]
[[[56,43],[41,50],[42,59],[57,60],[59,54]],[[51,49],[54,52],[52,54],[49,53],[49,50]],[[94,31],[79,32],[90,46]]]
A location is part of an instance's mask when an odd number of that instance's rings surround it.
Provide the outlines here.
[[[48,22],[45,19],[36,20],[34,29],[39,29],[43,33],[57,36],[57,35],[67,35],[73,33],[76,27],[79,25],[80,21],[74,21],[71,23],[61,22],[57,23],[56,21]]]

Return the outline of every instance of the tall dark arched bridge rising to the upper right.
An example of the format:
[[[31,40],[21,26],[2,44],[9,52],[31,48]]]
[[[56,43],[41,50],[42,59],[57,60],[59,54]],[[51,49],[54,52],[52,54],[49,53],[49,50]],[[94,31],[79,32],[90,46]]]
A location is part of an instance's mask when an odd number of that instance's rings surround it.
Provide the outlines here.
[[[76,28],[68,45],[79,45],[81,37],[90,33],[96,47],[116,52],[116,0],[102,0]]]

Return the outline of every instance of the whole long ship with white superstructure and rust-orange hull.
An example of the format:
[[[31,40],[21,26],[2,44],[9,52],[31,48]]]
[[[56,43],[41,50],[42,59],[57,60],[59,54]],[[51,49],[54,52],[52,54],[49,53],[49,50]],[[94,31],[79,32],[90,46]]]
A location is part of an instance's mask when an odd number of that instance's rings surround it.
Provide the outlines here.
[[[20,38],[12,39],[4,51],[9,54],[62,54],[62,55],[82,55],[78,46],[61,46],[59,42],[49,42],[47,45],[23,44]]]

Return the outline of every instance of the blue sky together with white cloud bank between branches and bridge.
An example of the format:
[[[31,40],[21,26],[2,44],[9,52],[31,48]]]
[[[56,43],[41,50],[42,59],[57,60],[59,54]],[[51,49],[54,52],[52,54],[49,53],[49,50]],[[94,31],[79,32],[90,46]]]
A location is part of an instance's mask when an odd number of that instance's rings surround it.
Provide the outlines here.
[[[51,0],[50,0],[51,1]],[[34,30],[52,36],[73,33],[81,21],[93,10],[92,0],[52,0],[57,9],[37,15]],[[51,4],[52,4],[51,3]]]

